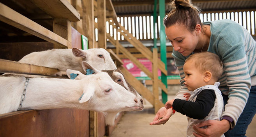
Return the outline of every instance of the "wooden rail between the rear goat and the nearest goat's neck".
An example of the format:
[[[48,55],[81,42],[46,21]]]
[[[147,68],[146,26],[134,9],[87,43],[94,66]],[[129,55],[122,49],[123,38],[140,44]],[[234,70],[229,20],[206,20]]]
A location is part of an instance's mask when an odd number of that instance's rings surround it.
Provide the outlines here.
[[[16,61],[0,59],[0,72],[53,76],[57,72],[59,72],[59,70],[56,68],[42,67],[27,63],[19,63]]]

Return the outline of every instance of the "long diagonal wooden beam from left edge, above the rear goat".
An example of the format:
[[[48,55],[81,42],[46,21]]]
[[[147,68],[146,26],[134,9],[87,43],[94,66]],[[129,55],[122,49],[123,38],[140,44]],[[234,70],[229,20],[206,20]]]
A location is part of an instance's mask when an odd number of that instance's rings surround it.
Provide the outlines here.
[[[71,47],[71,42],[0,3],[0,20],[53,44]]]

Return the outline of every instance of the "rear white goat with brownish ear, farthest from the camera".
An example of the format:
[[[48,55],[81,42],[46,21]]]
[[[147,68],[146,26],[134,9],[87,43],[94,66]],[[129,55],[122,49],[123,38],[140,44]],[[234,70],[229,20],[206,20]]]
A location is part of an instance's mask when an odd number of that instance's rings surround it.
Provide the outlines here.
[[[102,48],[88,50],[76,47],[72,49],[51,49],[27,54],[19,60],[20,63],[58,68],[60,71],[78,70],[85,74],[81,66],[82,61],[87,61],[97,70],[117,69],[108,51]]]

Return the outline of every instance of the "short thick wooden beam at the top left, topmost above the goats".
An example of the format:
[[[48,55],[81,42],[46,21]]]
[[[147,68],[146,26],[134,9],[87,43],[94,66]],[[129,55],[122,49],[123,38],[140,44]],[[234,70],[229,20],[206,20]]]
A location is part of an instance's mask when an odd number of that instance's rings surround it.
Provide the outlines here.
[[[67,0],[31,0],[31,2],[53,18],[80,20],[80,14]]]

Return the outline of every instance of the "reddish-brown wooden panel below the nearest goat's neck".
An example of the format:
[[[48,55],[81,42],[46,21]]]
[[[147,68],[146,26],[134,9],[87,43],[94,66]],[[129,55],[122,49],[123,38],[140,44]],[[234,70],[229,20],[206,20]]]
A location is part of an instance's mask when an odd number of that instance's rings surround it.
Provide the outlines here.
[[[81,109],[18,111],[0,115],[0,137],[89,137],[89,113]]]

